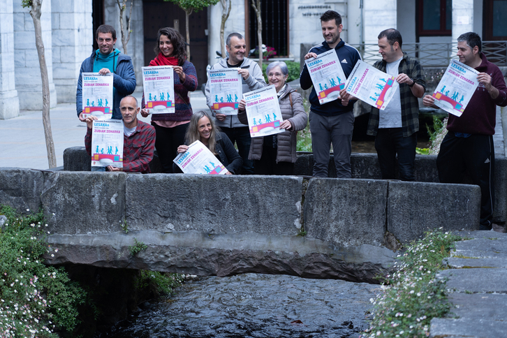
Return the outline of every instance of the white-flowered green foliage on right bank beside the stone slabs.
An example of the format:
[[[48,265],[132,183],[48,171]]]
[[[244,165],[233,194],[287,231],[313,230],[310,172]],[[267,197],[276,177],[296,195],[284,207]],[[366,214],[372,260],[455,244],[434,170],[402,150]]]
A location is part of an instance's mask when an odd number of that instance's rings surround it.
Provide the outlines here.
[[[446,281],[436,279],[436,272],[445,268],[442,260],[457,240],[461,237],[443,233],[441,228],[428,231],[398,256],[397,271],[385,277],[383,291],[370,299],[372,321],[360,337],[427,337],[432,318],[450,310]]]

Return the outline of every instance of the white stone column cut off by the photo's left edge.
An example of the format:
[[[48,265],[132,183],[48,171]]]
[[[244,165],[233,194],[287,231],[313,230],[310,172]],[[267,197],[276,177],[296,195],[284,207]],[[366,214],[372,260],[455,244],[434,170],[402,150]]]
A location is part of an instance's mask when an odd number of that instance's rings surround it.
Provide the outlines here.
[[[0,119],[20,115],[14,80],[13,2],[0,3]]]

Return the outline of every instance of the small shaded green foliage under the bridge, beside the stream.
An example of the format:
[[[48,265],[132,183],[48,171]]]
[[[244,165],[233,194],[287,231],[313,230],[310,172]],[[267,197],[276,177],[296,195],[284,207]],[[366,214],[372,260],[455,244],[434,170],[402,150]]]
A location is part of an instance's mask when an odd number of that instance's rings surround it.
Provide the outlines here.
[[[170,295],[175,288],[182,285],[183,281],[183,274],[140,270],[134,286],[137,289],[151,288],[157,295]]]

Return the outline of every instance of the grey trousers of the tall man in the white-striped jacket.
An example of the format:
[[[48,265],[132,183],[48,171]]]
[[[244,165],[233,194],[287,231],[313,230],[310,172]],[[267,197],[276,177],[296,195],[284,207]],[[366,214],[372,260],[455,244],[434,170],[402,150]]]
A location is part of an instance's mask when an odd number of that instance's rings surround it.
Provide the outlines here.
[[[310,110],[311,149],[314,152],[314,176],[328,177],[330,147],[338,178],[351,178],[351,142],[354,128],[352,111],[322,116]]]

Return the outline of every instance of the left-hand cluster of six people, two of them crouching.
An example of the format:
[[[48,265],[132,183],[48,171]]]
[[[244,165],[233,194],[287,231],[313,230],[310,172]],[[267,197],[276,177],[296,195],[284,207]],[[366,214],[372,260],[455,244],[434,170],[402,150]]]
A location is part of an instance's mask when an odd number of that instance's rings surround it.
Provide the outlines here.
[[[151,126],[138,120],[149,115],[143,96],[141,107],[131,95],[135,90],[135,74],[131,58],[115,49],[116,31],[103,24],[96,30],[98,50],[85,59],[80,69],[76,110],[82,122],[87,123],[85,146],[91,155],[91,128],[94,116],[82,115],[82,73],[94,72],[113,74],[113,119],[124,120],[124,158],[123,168],[108,166],[92,167],[92,170],[131,171],[147,173],[154,149],[159,156],[163,172],[181,172],[173,163],[177,154],[186,152],[188,146],[200,140],[218,157],[230,174],[292,175],[296,161],[296,133],[307,125],[302,98],[286,80],[288,68],[284,62],[271,64],[267,69],[269,84],[274,84],[279,96],[284,122],[281,128],[286,131],[274,136],[250,138],[244,101],[240,103],[238,115],[223,115],[200,111],[193,112],[189,91],[198,87],[196,68],[186,58],[185,41],[175,29],[159,29],[156,57],[149,66],[172,66],[174,68],[175,113],[152,115]],[[230,34],[226,41],[229,57],[221,59],[212,69],[237,68],[242,77],[243,93],[260,89],[267,84],[263,72],[256,62],[245,54],[247,45],[241,34]],[[206,87],[207,104],[212,99]],[[238,151],[235,150],[234,143]],[[255,166],[254,166],[255,163]]]

